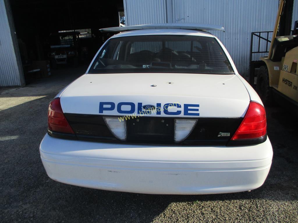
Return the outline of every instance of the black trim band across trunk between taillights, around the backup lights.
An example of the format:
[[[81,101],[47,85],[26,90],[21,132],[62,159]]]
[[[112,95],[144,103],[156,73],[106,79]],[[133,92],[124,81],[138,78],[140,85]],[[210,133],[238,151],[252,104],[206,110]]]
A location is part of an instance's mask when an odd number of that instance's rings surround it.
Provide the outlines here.
[[[96,142],[146,144],[146,145],[196,145],[196,146],[241,146],[265,142],[267,135],[257,139],[230,140],[243,118],[198,118],[190,135],[182,142],[174,142],[173,117],[137,117],[127,120],[127,140],[121,141],[108,129],[102,115],[64,114],[75,132],[61,134],[49,131],[58,138],[79,139]],[[183,119],[185,119],[183,117]],[[190,118],[193,119],[193,118]],[[219,136],[219,133],[230,136]]]

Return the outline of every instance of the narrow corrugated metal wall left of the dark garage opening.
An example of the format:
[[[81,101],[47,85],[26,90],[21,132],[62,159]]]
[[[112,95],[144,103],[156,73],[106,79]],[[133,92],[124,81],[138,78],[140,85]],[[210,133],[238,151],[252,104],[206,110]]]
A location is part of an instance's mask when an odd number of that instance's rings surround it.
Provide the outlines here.
[[[21,85],[4,0],[0,0],[0,86]]]

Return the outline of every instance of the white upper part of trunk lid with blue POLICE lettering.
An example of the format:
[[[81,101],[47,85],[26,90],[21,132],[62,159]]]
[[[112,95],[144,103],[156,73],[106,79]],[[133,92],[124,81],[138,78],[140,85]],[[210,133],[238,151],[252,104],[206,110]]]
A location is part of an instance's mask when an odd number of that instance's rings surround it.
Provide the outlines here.
[[[232,118],[244,116],[250,98],[234,74],[119,73],[85,74],[63,92],[60,100],[63,112],[72,114],[123,116],[144,111],[140,106],[153,105],[161,106],[162,111],[146,116]],[[166,104],[178,106],[165,113]]]

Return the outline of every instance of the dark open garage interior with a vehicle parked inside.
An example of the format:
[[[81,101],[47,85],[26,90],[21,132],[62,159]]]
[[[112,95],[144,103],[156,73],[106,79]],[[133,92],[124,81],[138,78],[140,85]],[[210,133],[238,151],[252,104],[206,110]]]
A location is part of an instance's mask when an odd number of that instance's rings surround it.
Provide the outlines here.
[[[26,84],[57,70],[87,68],[112,33],[99,29],[125,23],[122,0],[10,0]]]

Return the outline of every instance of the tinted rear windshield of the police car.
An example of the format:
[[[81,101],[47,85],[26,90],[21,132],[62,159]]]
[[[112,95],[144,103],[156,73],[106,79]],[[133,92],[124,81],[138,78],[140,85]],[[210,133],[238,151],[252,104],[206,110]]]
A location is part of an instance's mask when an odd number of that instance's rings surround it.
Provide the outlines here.
[[[111,38],[89,73],[233,73],[213,37],[144,35]]]

